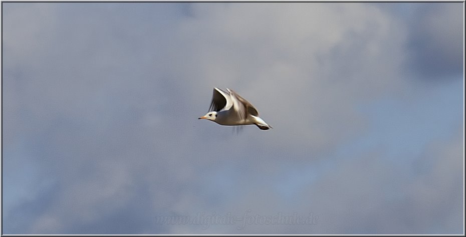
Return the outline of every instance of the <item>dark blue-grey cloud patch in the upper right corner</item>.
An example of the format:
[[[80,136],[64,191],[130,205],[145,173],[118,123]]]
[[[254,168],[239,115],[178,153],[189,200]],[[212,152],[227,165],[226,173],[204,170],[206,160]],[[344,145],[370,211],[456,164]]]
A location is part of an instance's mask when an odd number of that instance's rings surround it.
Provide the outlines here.
[[[409,18],[409,65],[421,77],[444,79],[462,74],[463,7],[462,3],[421,4]]]

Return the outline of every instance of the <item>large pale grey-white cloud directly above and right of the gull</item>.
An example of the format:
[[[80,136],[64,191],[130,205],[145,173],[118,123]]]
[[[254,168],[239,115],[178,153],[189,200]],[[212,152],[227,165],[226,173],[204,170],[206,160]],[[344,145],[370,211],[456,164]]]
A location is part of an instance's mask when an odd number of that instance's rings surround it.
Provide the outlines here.
[[[328,149],[361,125],[357,100],[402,83],[403,27],[375,7],[194,4],[192,12],[176,44],[196,68],[182,65],[182,77],[202,78],[199,95],[214,85],[250,99],[280,132],[267,140],[275,146]]]

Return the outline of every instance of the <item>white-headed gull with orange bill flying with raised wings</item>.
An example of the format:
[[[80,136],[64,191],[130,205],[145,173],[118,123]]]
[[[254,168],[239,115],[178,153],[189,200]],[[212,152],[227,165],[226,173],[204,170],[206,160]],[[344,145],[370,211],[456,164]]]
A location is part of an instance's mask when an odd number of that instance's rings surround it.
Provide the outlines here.
[[[207,119],[228,126],[254,124],[262,130],[272,128],[259,117],[259,112],[254,105],[228,88],[226,91],[213,88],[209,111],[199,119]]]

